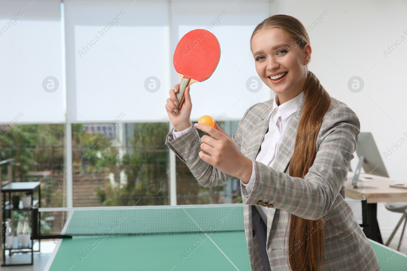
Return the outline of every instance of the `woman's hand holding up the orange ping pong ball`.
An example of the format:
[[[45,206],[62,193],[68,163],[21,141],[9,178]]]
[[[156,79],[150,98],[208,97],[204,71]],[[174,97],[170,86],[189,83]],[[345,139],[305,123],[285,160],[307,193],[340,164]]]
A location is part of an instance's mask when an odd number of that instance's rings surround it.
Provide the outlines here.
[[[253,162],[239,150],[232,138],[219,126],[212,128],[205,124],[196,123],[194,125],[213,137],[206,134],[202,136],[201,149],[203,151],[199,152],[199,157],[223,173],[239,178],[243,183],[249,182]]]

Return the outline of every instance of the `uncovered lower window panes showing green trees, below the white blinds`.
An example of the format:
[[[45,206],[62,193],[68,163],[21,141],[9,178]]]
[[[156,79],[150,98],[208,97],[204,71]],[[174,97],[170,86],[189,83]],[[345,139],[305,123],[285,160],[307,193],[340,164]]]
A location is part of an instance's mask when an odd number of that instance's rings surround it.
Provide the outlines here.
[[[230,136],[238,121],[220,123]],[[41,182],[42,206],[66,206],[64,125],[18,125],[3,131],[0,159],[2,180],[12,169],[13,182]],[[73,199],[80,206],[168,205],[168,123],[72,124]],[[7,134],[6,132],[7,131]],[[200,137],[204,132],[199,131]],[[178,204],[239,202],[239,180],[205,188],[184,162],[176,160]]]

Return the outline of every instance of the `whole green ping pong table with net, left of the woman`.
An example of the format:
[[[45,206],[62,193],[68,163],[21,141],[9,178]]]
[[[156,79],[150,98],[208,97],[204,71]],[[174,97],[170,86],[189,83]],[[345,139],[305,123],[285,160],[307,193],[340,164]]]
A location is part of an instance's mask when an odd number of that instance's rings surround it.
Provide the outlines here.
[[[250,270],[242,204],[38,210],[46,271]]]

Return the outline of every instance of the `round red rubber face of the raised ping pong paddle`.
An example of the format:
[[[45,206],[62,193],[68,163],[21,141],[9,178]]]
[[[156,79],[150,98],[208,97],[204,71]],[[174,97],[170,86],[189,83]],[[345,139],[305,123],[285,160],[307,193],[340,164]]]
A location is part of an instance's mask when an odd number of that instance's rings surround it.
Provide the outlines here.
[[[199,82],[208,79],[216,69],[221,48],[218,39],[205,29],[189,31],[175,48],[175,70]]]

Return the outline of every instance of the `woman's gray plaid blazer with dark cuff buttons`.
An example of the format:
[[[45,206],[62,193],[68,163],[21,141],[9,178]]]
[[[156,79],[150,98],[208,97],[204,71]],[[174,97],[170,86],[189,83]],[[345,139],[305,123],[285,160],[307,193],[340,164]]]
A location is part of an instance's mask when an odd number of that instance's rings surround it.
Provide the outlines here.
[[[273,167],[255,161],[256,182],[252,193],[248,195],[245,186],[241,184],[251,269],[290,270],[287,222],[291,213],[311,220],[325,218],[324,252],[327,271],[379,271],[379,262],[372,245],[344,200],[344,182],[359,138],[359,118],[345,103],[332,98],[332,104],[318,133],[313,165],[304,179],[291,177],[289,162],[293,155],[303,104],[304,98],[282,139]],[[270,117],[267,116],[272,108],[273,99],[251,106],[232,136],[237,147],[250,159],[256,159],[269,126]],[[176,139],[171,130],[165,143],[186,163],[202,186],[216,186],[233,178],[199,158],[201,141],[195,126]],[[256,208],[252,206],[256,204],[269,207],[265,246],[270,268],[263,264],[264,256],[261,255],[258,234],[253,227],[252,211]]]

